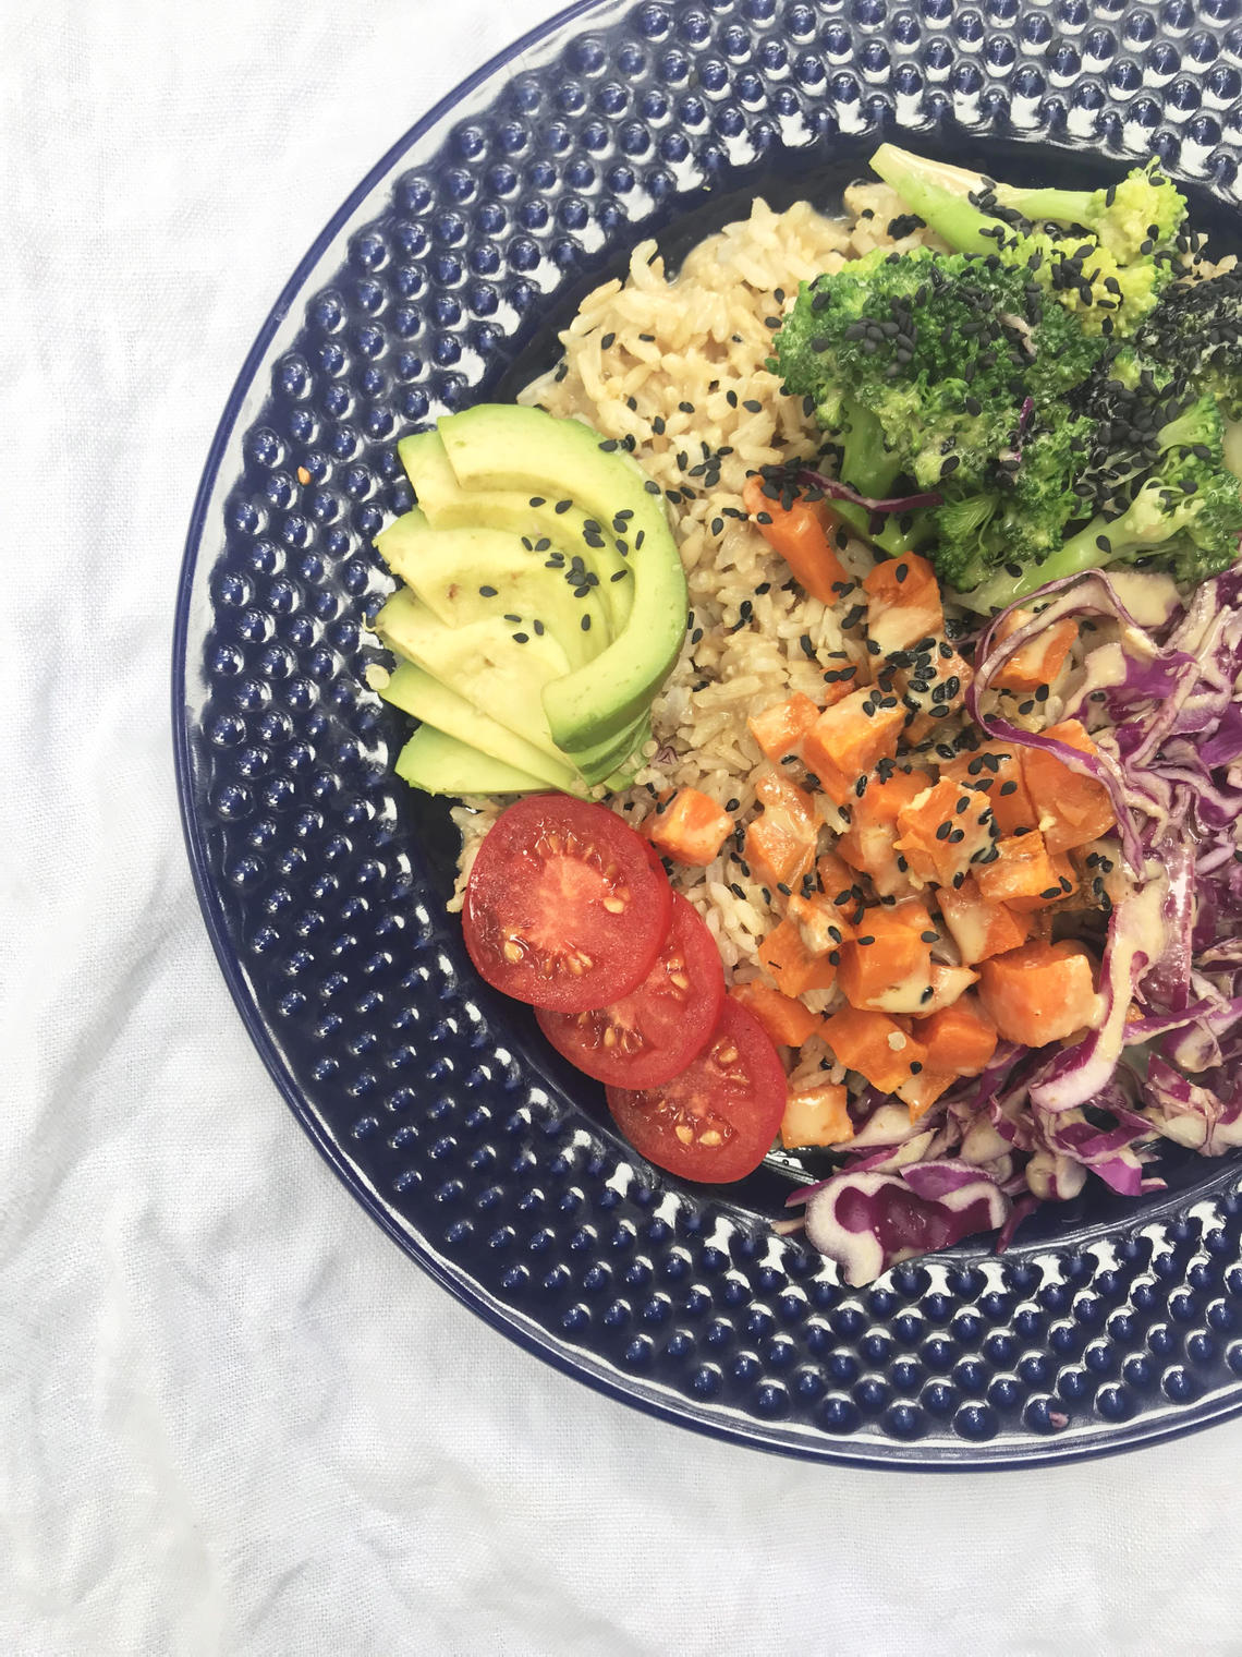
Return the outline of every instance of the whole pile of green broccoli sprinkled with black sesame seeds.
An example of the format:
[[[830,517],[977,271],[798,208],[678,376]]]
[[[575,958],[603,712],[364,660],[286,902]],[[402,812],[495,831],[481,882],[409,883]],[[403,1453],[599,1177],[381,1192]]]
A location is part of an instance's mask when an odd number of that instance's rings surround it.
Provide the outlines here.
[[[1242,275],[1176,282],[1186,202],[1158,164],[1093,192],[889,144],[873,166],[954,252],[878,250],[803,283],[785,318],[770,366],[850,486],[835,510],[881,552],[926,550],[979,610],[1100,565],[1230,565]]]

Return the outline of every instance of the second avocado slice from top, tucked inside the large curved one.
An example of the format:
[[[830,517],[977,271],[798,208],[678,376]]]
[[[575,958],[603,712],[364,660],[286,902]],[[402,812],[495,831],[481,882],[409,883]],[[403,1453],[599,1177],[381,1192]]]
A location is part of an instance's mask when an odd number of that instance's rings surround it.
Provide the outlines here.
[[[598,593],[606,608],[611,636],[621,631],[629,618],[634,582],[629,563],[618,550],[618,537],[609,519],[588,520],[588,514],[580,507],[558,512],[556,507],[565,495],[555,492],[545,495],[537,489],[527,489],[522,482],[507,489],[462,487],[449,464],[439,431],[421,431],[412,437],[402,437],[397,454],[419,497],[419,507],[434,529],[482,525],[525,535],[535,547],[548,542],[543,548],[545,558],[551,558],[556,552],[565,555],[560,577],[566,590],[583,593],[586,588],[583,597]],[[583,560],[581,568],[590,572],[595,582],[575,580],[575,557]],[[591,626],[598,623],[593,620]]]

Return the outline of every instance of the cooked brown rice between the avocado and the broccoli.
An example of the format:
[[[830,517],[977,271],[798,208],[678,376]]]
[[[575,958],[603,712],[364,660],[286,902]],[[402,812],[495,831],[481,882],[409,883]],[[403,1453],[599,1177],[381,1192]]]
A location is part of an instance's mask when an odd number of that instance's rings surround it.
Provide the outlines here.
[[[520,403],[581,416],[606,437],[633,437],[634,457],[666,490],[669,517],[689,583],[686,645],[651,709],[652,741],[626,794],[608,804],[639,824],[661,790],[692,785],[729,810],[742,830],[753,814],[763,757],[747,714],[803,691],[823,704],[830,651],[861,656],[836,616],[806,597],[749,522],[742,487],[762,466],[818,452],[820,437],[797,398],[780,394],[767,366],[772,331],[797,298],[798,283],[838,270],[874,247],[932,242],[926,232],[901,240],[886,225],[903,209],[883,184],[846,192],[846,217],[830,219],[806,202],[775,214],[757,200],[750,217],[700,242],[667,278],[654,242],[634,249],[624,282],[603,283],[561,335],[565,356],[527,386]],[[869,567],[861,545],[843,562]],[[835,809],[818,795],[825,822]],[[462,860],[454,908],[495,800],[454,809]],[[672,870],[674,886],[707,921],[727,976],[758,976],[757,948],[780,915],[772,895],[740,863],[740,832],[707,868]],[[805,998],[816,1007],[816,998]],[[820,994],[820,1006],[831,1001]],[[802,1069],[831,1067],[811,1039]]]

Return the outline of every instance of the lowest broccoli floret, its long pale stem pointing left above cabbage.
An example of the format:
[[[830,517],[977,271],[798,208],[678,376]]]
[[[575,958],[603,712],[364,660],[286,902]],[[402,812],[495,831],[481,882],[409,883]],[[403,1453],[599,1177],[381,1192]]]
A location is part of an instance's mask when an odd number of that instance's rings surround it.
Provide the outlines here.
[[[1220,414],[1211,398],[1202,398],[1166,434],[1159,466],[1124,512],[1098,514],[1052,557],[1018,575],[994,575],[965,595],[970,608],[1002,608],[1045,582],[1114,563],[1166,570],[1179,582],[1202,582],[1227,570],[1239,555],[1242,490],[1224,466]]]

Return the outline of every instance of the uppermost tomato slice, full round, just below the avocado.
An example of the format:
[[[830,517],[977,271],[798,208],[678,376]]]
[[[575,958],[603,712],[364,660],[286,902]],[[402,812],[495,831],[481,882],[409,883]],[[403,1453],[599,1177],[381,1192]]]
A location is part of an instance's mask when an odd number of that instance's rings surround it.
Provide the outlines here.
[[[629,824],[566,794],[530,794],[484,837],[465,885],[465,948],[495,989],[585,1012],[619,1001],[656,963],[672,888]]]

